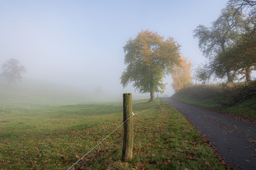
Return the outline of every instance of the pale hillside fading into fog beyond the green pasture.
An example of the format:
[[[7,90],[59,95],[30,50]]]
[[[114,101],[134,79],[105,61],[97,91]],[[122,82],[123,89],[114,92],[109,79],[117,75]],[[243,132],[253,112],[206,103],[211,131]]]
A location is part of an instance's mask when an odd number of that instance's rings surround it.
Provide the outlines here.
[[[74,88],[57,83],[39,81],[31,78],[23,78],[22,82],[9,84],[0,77],[0,103],[6,103],[15,108],[19,105],[33,106],[56,106],[70,105],[85,102],[104,102],[122,100],[122,93],[111,94],[106,87],[95,86],[91,89]],[[148,96],[136,96],[133,98],[147,98]],[[25,107],[25,106],[24,106]]]

